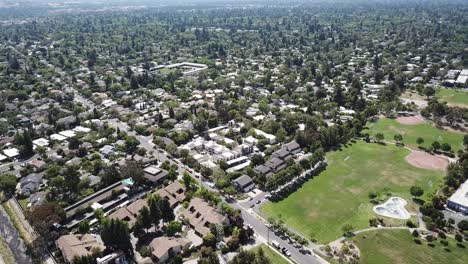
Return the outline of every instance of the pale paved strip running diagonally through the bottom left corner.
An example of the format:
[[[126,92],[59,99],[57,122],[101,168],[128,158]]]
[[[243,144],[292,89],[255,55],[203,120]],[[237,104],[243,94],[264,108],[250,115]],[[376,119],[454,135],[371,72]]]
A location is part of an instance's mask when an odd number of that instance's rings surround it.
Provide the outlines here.
[[[29,264],[33,263],[31,258],[26,254],[26,246],[20,238],[18,231],[13,227],[10,218],[3,206],[0,206],[0,235],[5,239],[6,243],[13,252],[16,263]]]

